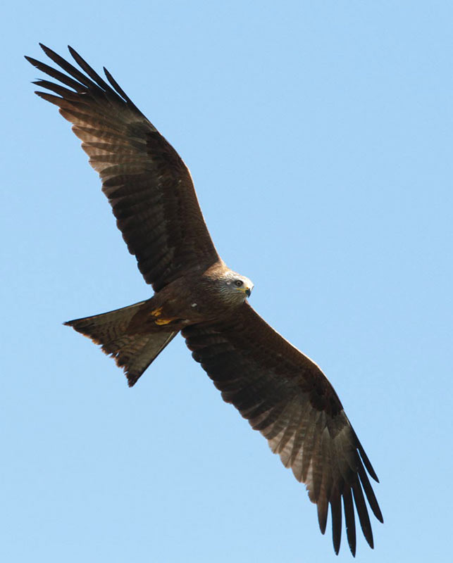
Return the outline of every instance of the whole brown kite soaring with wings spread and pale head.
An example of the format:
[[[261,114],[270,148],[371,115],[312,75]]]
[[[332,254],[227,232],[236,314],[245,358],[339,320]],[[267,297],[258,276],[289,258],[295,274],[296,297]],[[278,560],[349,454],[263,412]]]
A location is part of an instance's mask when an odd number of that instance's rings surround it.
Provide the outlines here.
[[[53,81],[33,82],[41,88],[35,94],[72,124],[154,291],[145,301],[65,324],[114,358],[129,386],[182,334],[223,400],[305,484],[321,533],[330,507],[335,553],[344,514],[356,554],[354,510],[373,548],[368,506],[378,521],[383,515],[368,474],[376,482],[378,476],[321,369],[249,305],[254,284],[218,255],[189,169],[106,68],[104,79],[72,47],[78,68],[39,45],[54,66],[25,58]]]

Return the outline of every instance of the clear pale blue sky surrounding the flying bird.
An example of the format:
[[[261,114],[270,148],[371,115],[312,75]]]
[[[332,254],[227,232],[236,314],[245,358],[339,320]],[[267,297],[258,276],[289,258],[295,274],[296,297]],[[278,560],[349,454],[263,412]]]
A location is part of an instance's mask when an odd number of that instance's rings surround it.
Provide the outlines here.
[[[356,560],[449,560],[452,3],[16,1],[2,21],[0,559],[352,559],[181,338],[129,389],[61,324],[150,288],[32,94],[43,42],[111,70],[189,165],[252,305],[335,386],[385,517]]]

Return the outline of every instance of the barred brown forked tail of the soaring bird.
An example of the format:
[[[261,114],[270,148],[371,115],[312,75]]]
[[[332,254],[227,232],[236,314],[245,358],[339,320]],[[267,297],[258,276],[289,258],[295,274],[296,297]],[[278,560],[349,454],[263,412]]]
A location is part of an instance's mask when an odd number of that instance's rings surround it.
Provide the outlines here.
[[[65,322],[96,344],[104,353],[111,355],[116,365],[123,367],[130,387],[137,382],[154,358],[172,341],[178,331],[159,331],[147,334],[128,333],[132,317],[146,301],[104,312],[94,317],[85,317]]]

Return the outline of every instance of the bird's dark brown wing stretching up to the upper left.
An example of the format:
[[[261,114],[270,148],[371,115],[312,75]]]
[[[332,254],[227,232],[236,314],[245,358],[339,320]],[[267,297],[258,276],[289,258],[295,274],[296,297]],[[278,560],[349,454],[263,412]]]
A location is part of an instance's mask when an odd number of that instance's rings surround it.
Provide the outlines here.
[[[56,80],[34,82],[82,139],[118,229],[145,281],[156,291],[183,272],[206,269],[218,254],[201,215],[190,172],[175,149],[104,68],[107,84],[73,49],[80,68],[41,45],[64,72],[25,57]],[[63,86],[61,85],[63,84]],[[57,94],[57,95],[55,95]]]

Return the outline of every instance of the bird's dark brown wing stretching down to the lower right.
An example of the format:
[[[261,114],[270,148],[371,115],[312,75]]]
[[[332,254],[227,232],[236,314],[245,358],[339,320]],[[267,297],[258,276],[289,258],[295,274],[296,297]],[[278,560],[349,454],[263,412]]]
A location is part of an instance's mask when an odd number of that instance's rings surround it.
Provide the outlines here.
[[[306,483],[309,498],[318,507],[322,533],[330,505],[335,552],[340,550],[342,504],[352,554],[356,550],[354,504],[373,548],[364,492],[376,518],[382,522],[383,517],[366,470],[376,481],[378,477],[321,369],[248,303],[229,320],[193,325],[182,335],[223,400],[235,405],[268,439],[285,467]]]

